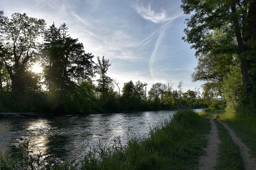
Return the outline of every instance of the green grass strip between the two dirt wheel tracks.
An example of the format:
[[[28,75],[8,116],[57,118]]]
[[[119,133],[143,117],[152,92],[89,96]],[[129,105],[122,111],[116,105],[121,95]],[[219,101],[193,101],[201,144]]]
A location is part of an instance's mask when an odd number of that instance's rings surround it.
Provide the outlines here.
[[[216,169],[243,169],[242,157],[238,146],[234,144],[224,126],[216,120],[214,122],[221,140]]]

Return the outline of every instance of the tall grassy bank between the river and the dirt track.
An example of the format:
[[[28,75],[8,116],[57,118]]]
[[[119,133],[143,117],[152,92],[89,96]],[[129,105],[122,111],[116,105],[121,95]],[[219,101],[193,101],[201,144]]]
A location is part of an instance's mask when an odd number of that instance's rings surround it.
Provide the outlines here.
[[[209,130],[207,118],[192,111],[180,111],[171,122],[163,122],[160,128],[152,129],[150,137],[143,141],[133,138],[127,146],[123,146],[115,138],[109,146],[99,143],[97,148],[85,155],[80,165],[42,162],[40,165],[48,164],[46,166],[50,169],[195,169],[199,155],[204,152],[202,147],[207,145],[205,135]],[[27,169],[36,166],[35,158],[23,156],[23,159],[28,159],[25,161]],[[0,159],[0,166],[2,169],[13,169],[11,164],[20,164],[23,159],[10,164]],[[3,168],[3,165],[6,167]]]

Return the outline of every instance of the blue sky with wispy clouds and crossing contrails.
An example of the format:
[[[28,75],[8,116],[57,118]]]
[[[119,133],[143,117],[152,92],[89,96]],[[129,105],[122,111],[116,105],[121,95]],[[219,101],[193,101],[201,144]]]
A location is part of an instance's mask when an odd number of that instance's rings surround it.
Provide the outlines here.
[[[84,44],[85,52],[105,56],[112,65],[108,75],[123,83],[133,80],[167,83],[183,90],[200,88],[192,82],[197,65],[195,51],[185,36],[181,0],[1,0],[0,10],[46,20],[47,27],[66,23],[69,35]],[[95,57],[96,61],[96,57]]]

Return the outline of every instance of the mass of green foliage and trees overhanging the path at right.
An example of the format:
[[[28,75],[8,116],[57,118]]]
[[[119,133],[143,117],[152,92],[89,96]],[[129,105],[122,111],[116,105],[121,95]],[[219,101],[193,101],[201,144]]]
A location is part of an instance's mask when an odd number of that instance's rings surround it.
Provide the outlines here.
[[[191,14],[185,41],[199,62],[193,80],[204,80],[204,97],[221,95],[230,112],[240,116],[255,110],[255,1],[183,0]],[[255,112],[254,112],[255,113]]]

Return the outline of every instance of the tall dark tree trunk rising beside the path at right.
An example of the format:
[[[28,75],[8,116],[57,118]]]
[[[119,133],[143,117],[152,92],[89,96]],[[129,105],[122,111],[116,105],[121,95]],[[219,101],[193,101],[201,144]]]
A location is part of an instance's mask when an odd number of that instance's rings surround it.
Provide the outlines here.
[[[232,10],[232,19],[233,19],[233,25],[234,25],[234,32],[236,34],[237,38],[237,44],[238,44],[238,55],[241,57],[241,69],[242,69],[242,76],[243,76],[243,83],[245,84],[246,89],[246,95],[250,94],[250,80],[249,80],[249,71],[248,71],[248,64],[247,59],[244,56],[245,52],[245,45],[243,44],[243,39],[241,35],[241,28],[238,21],[238,14],[236,10],[236,1],[233,1],[231,3],[231,10]]]

